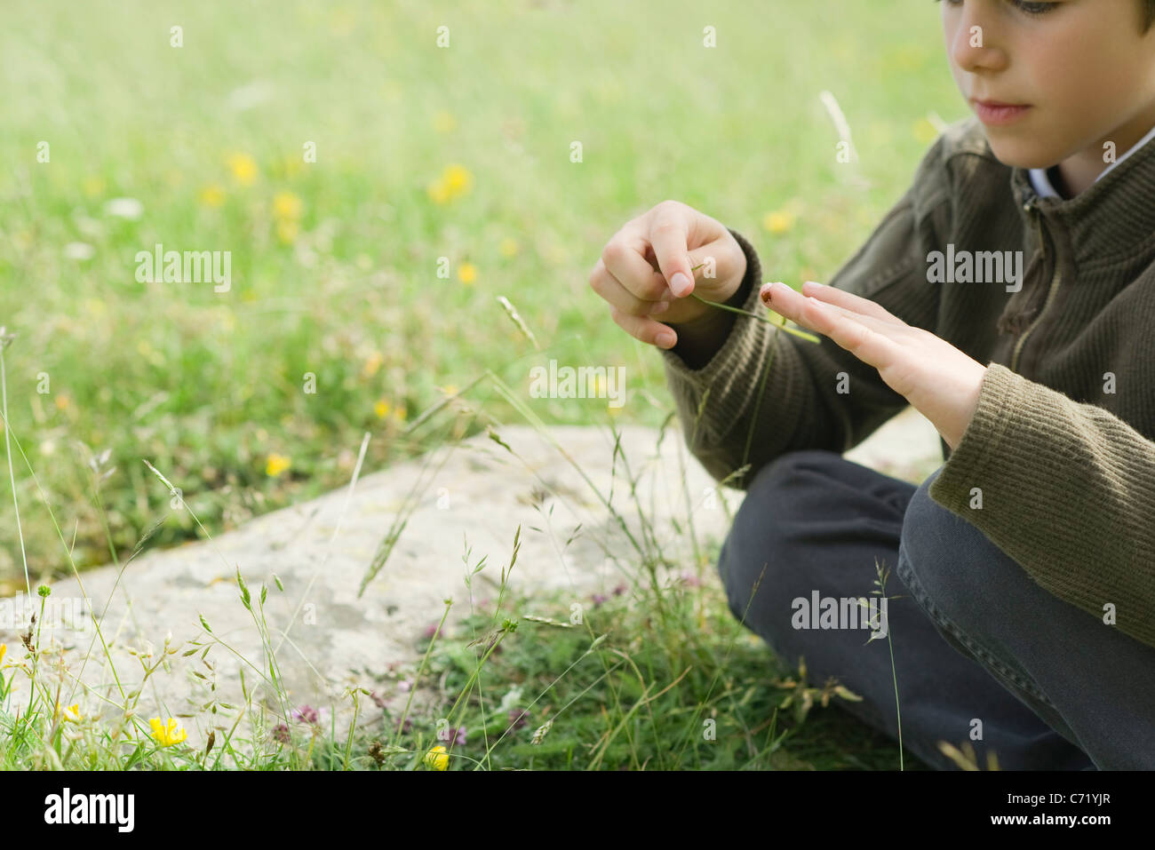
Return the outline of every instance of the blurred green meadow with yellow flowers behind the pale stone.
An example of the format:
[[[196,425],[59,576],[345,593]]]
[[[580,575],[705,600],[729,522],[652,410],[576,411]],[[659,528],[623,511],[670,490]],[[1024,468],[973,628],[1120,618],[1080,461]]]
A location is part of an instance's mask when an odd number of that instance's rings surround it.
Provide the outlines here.
[[[5,17],[12,434],[82,567],[110,560],[88,465],[104,449],[99,502],[124,557],[167,512],[141,458],[217,534],[346,483],[365,431],[366,470],[444,439],[398,438],[485,367],[549,423],[657,425],[672,410],[661,359],[587,283],[613,232],[672,197],[748,236],[767,279],[828,279],[909,185],[937,135],[927,117],[967,114],[938,12],[915,0],[95,1]],[[824,89],[856,165],[835,161]],[[139,215],[110,206],[125,197]],[[231,290],[137,283],[134,256],[157,243],[230,251]],[[528,398],[551,357],[624,365],[626,405]],[[470,397],[519,419],[484,385]],[[35,586],[69,568],[13,454]],[[198,535],[176,512],[154,543]]]

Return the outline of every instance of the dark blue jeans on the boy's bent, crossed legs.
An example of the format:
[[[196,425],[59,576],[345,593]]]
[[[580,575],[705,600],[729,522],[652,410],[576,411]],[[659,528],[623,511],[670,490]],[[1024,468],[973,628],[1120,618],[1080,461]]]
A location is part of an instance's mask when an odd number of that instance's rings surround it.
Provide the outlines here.
[[[969,743],[983,769],[988,752],[1004,770],[1155,768],[1155,648],[1043,590],[931,499],[937,475],[916,487],[822,450],[760,469],[718,560],[731,612],[789,666],[805,657],[812,685],[859,694],[833,702],[895,739],[896,678],[902,743],[936,768],[955,767],[938,741]],[[901,597],[886,609],[894,676],[869,628],[802,627],[814,591],[870,599],[875,559]]]

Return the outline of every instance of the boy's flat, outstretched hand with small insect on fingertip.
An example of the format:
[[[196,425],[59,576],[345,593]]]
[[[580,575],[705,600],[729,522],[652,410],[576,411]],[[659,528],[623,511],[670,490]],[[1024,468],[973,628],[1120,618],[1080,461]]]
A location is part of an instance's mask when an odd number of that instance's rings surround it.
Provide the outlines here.
[[[986,366],[874,301],[835,286],[807,281],[798,293],[774,283],[763,285],[760,294],[775,313],[830,337],[877,368],[891,389],[931,420],[951,450],[959,445],[975,415]]]

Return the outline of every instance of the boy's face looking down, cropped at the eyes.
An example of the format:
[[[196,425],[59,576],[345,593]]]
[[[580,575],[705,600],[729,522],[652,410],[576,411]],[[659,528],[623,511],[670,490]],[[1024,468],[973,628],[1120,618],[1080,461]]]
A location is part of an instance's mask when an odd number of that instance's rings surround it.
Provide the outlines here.
[[[1024,169],[1080,154],[1094,164],[1108,141],[1122,156],[1155,126],[1155,27],[1141,23],[1139,0],[942,0],[947,59],[971,110],[1030,105],[983,122],[999,161]]]

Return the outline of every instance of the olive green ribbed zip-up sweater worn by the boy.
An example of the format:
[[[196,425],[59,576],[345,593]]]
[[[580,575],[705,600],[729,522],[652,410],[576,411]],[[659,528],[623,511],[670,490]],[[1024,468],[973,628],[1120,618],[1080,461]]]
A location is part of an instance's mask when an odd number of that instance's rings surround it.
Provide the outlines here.
[[[768,314],[758,255],[731,232],[748,266],[730,303]],[[994,251],[1023,252],[1018,292],[964,282],[957,264],[953,282],[932,282],[932,252],[959,263],[960,252]],[[829,284],[988,366],[962,439],[953,453],[941,443],[931,498],[1049,592],[1100,619],[1113,610],[1115,627],[1155,647],[1155,143],[1073,199],[1041,197],[1028,171],[996,158],[977,119],[951,125]],[[687,446],[718,480],[750,463],[731,479],[745,490],[785,452],[841,454],[907,407],[828,337],[731,322],[700,368],[678,348],[661,351]]]

